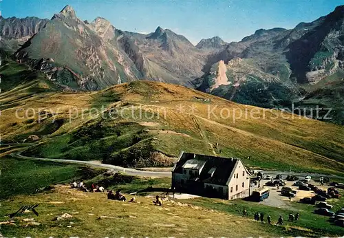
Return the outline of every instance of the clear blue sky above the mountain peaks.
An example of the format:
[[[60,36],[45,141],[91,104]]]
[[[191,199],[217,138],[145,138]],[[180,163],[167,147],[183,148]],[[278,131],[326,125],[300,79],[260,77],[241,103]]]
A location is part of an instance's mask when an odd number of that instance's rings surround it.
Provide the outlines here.
[[[1,0],[0,0],[1,1]],[[83,20],[109,20],[115,28],[154,32],[160,26],[186,36],[193,44],[220,36],[240,41],[258,29],[294,28],[329,14],[344,1],[338,0],[2,0],[3,17],[51,19],[66,5]]]

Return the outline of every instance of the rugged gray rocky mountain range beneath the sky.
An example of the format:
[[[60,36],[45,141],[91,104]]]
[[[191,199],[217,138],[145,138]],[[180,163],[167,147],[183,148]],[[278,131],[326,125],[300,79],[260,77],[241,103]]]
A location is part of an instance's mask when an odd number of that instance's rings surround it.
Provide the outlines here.
[[[344,124],[344,6],[231,43],[215,36],[193,45],[160,27],[126,32],[101,17],[83,21],[71,6],[50,20],[1,17],[0,34],[2,54],[43,72],[58,90],[154,80],[259,107],[331,107],[331,121]]]

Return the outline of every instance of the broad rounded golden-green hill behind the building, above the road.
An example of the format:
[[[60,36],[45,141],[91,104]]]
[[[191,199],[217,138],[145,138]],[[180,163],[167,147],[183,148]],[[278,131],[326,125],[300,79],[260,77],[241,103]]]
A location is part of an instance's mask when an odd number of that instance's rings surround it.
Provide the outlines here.
[[[189,151],[235,156],[265,169],[343,173],[343,127],[330,123],[165,83],[138,81],[92,93],[32,94],[32,87],[0,94],[0,130],[8,142],[39,136],[27,152],[33,156],[169,166]],[[25,116],[29,108],[36,110],[32,118]],[[123,157],[130,162],[118,160]]]

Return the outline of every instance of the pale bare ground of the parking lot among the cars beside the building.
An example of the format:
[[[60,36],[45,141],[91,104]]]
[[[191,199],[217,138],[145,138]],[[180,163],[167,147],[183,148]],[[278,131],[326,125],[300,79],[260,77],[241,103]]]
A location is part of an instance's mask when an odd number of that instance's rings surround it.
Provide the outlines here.
[[[265,186],[265,183],[268,181],[269,180],[261,180],[261,186]],[[299,190],[298,186],[292,186],[292,184],[294,184],[293,181],[287,181],[287,180],[284,180],[284,181],[286,182],[286,186],[290,186],[292,189],[297,191],[296,196],[292,197],[291,199],[292,202],[299,202],[299,199],[303,197],[313,197],[314,195],[316,195],[313,191]],[[314,180],[311,180],[310,184],[314,184],[317,187],[322,188],[324,190],[327,190],[327,188],[329,187],[326,185],[320,186],[320,183]],[[267,199],[264,199],[264,201],[261,202],[261,204],[264,204],[266,206],[274,206],[277,208],[288,208],[288,209],[292,208],[292,206],[290,206],[289,198],[281,195],[282,186],[279,187],[279,190],[277,190],[277,186],[275,187],[267,186],[267,187],[270,189],[270,195]],[[257,186],[254,188],[257,188]]]

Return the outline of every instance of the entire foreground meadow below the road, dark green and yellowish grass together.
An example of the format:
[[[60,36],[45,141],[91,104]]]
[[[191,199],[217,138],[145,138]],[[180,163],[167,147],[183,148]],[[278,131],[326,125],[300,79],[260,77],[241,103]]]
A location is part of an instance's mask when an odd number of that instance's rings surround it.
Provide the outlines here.
[[[1,234],[5,237],[87,237],[97,236],[149,236],[149,237],[282,237],[282,236],[338,236],[341,229],[329,226],[325,217],[312,213],[313,206],[292,202],[290,208],[275,208],[241,200],[224,201],[222,199],[195,198],[188,200],[164,201],[162,207],[153,206],[155,193],[136,195],[138,203],[109,201],[104,193],[84,193],[69,186],[53,186],[50,191],[34,193],[36,188],[50,184],[61,184],[71,180],[84,180],[87,186],[99,184],[105,188],[120,189],[128,193],[140,191],[148,186],[169,188],[169,178],[151,179],[131,177],[121,174],[103,173],[73,165],[52,162],[32,162],[0,159],[1,177],[0,210]],[[81,176],[83,175],[83,176]],[[90,180],[87,180],[91,178]],[[12,188],[13,185],[15,188]],[[11,185],[11,186],[10,186]],[[34,193],[34,194],[33,194]],[[162,193],[158,193],[162,194]],[[10,198],[10,199],[8,199]],[[331,199],[330,204],[338,210],[344,199]],[[33,213],[22,213],[8,219],[8,214],[17,211],[23,204],[39,204]],[[241,217],[242,210],[248,210],[248,217]],[[301,211],[297,223],[285,221],[284,227],[268,225],[266,222],[253,221],[255,212],[264,212],[276,217],[288,217],[295,210]],[[71,219],[53,221],[53,218],[69,213]],[[100,218],[101,217],[101,218]],[[28,220],[29,219],[29,220]],[[12,221],[6,224],[6,221]],[[14,226],[15,224],[15,226]],[[213,229],[209,230],[209,226]],[[249,227],[249,229],[247,229]],[[246,228],[246,229],[245,229]]]

